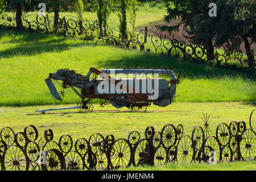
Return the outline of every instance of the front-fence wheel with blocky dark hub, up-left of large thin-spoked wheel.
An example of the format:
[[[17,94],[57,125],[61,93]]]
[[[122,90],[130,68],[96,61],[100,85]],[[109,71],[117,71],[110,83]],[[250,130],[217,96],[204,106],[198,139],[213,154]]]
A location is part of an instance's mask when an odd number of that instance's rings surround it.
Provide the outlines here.
[[[94,133],[90,135],[88,140],[90,144],[90,149],[95,155],[101,155],[106,150],[105,139],[99,133]]]

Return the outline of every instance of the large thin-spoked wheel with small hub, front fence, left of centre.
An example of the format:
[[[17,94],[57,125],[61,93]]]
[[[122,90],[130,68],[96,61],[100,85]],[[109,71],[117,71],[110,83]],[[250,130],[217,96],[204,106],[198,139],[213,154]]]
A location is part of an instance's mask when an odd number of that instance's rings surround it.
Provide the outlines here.
[[[111,168],[126,168],[132,163],[133,148],[126,139],[117,139],[113,144],[113,155],[110,156]]]

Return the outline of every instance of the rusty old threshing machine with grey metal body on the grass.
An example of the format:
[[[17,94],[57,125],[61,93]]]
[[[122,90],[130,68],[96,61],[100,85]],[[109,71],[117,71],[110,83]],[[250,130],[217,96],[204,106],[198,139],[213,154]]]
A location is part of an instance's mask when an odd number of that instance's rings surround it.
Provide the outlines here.
[[[113,78],[110,75],[135,75],[133,78]],[[167,75],[170,81],[163,78],[137,78],[137,75]],[[92,77],[91,77],[92,76]],[[49,73],[45,80],[55,100],[62,101],[64,91],[58,93],[55,87],[57,82],[61,88],[71,88],[81,101],[75,107],[36,110],[36,112],[79,109],[79,111],[92,112],[93,105],[89,101],[100,99],[101,107],[112,104],[116,108],[126,106],[134,112],[144,112],[153,102],[155,105],[165,107],[174,99],[179,76],[176,78],[170,69],[102,69],[90,68],[87,75],[75,73],[69,69],[60,69],[56,73]],[[59,82],[59,81],[62,81]]]

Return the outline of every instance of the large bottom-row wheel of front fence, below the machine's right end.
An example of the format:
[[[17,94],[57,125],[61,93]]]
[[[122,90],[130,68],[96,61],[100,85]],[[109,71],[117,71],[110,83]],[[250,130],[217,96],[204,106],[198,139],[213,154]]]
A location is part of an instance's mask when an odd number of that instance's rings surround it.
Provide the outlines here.
[[[177,143],[177,162],[192,162],[193,160],[193,147],[192,139],[188,135],[181,137]]]

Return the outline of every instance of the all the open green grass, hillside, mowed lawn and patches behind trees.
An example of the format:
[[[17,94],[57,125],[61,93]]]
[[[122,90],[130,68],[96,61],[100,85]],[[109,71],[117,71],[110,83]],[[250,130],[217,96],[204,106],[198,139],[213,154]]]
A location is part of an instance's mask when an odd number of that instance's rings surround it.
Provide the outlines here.
[[[138,11],[137,27],[161,20],[166,12],[162,5],[143,4]],[[28,13],[34,14],[34,13]],[[50,14],[52,15],[52,14]],[[75,13],[61,13],[60,16]],[[96,19],[96,13],[84,13],[86,19]],[[118,30],[117,13],[112,13],[109,26]],[[144,138],[147,126],[161,131],[166,124],[184,126],[184,134],[192,134],[196,126],[203,127],[204,113],[210,114],[212,135],[218,124],[245,121],[256,105],[256,75],[234,69],[216,68],[173,57],[153,55],[148,52],[106,46],[98,40],[84,41],[62,36],[0,30],[0,129],[11,127],[15,133],[27,125],[34,125],[43,137],[52,129],[54,140],[69,134],[74,142],[88,139],[93,133],[104,137],[127,138],[131,131],[138,131]],[[67,90],[64,102],[55,105],[44,79],[57,69],[69,68],[86,74],[90,67],[103,68],[168,68],[176,75],[183,71],[183,82],[177,87],[174,102],[167,107],[152,105],[146,113],[130,113],[126,107],[112,105],[100,107],[94,101],[92,113],[77,110],[55,113],[34,113],[38,109],[76,106],[79,97]],[[162,76],[167,78],[166,76]],[[167,78],[168,79],[168,78]],[[256,123],[253,122],[255,129]],[[132,167],[121,170],[256,170],[256,162],[222,162],[217,165],[169,163],[160,167]]]

